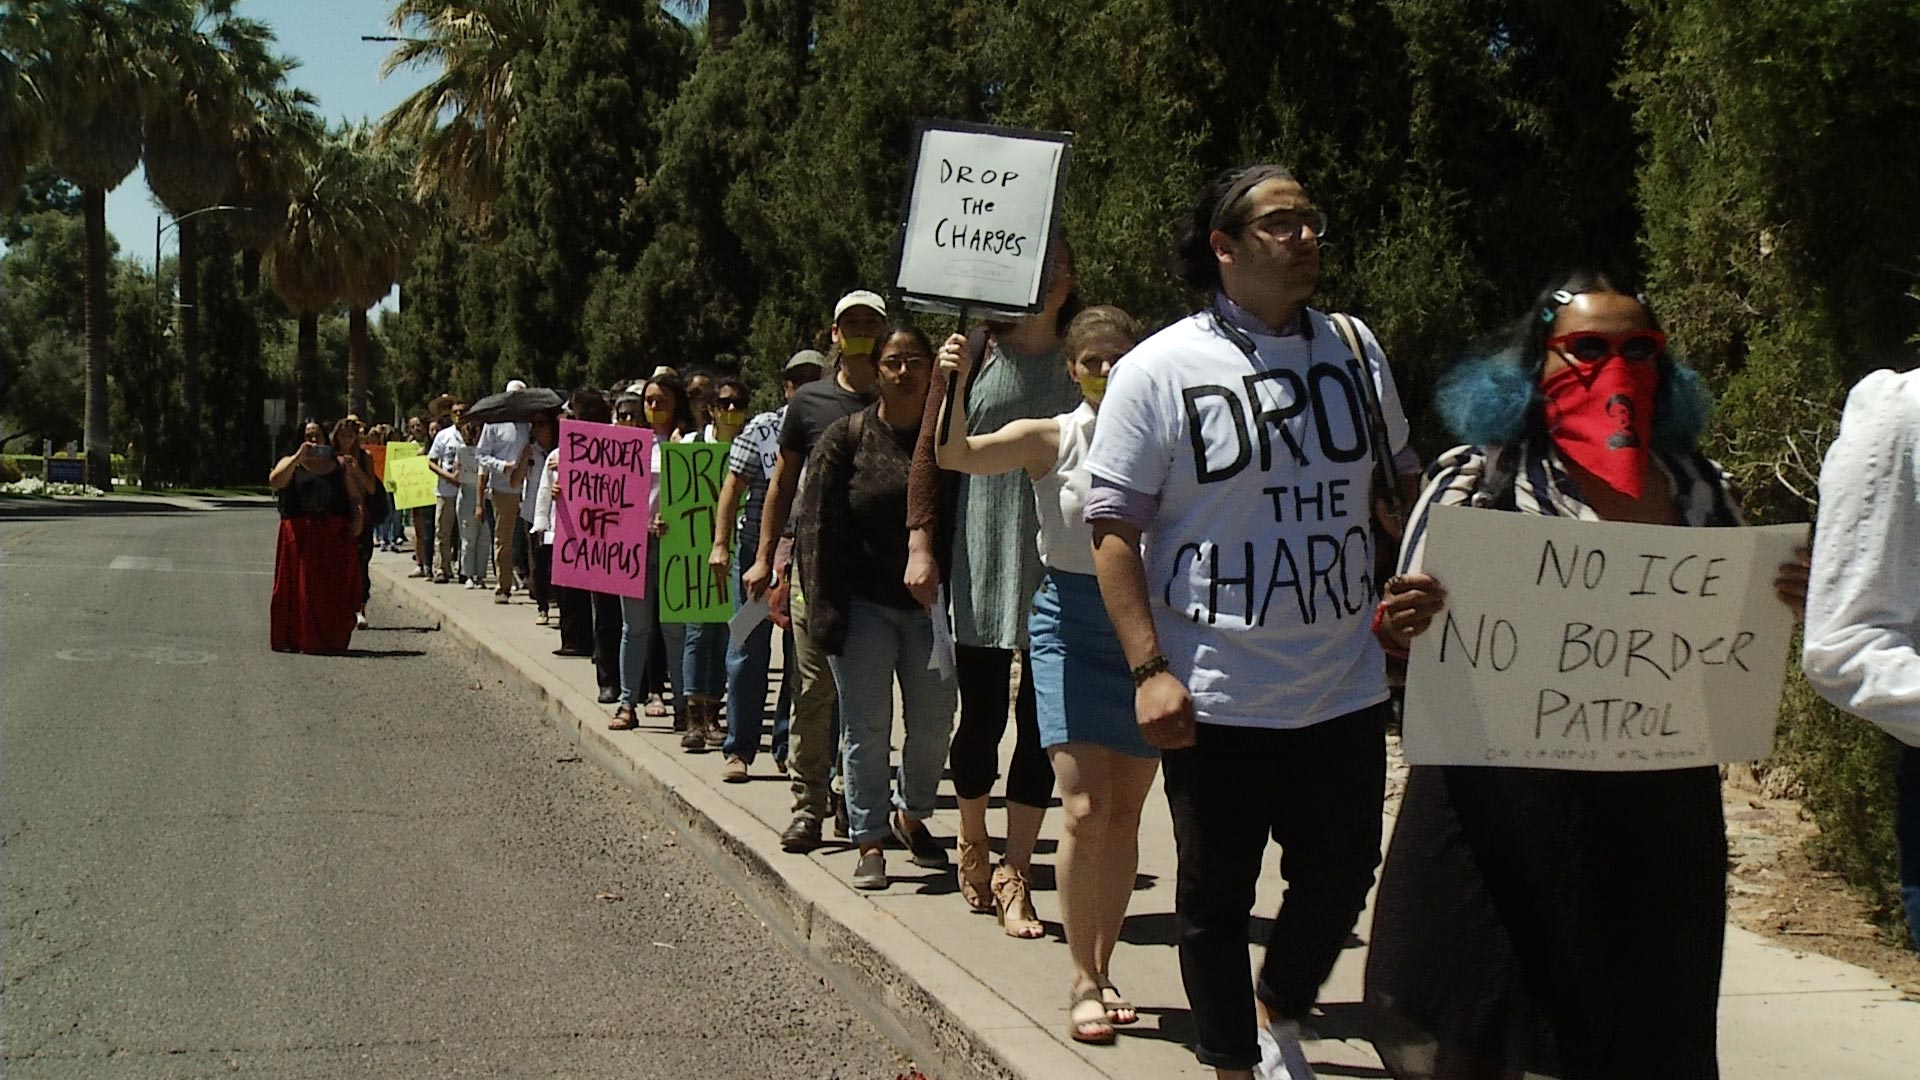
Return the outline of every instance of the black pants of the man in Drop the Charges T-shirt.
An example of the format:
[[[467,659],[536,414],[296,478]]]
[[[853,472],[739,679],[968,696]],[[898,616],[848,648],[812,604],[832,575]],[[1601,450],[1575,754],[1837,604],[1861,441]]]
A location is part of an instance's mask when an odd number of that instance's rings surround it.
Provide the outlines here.
[[[1181,982],[1213,1068],[1260,1063],[1246,984],[1246,920],[1267,840],[1281,846],[1286,899],[1254,988],[1300,1019],[1346,945],[1380,863],[1386,703],[1294,730],[1198,724],[1162,755],[1179,878]]]

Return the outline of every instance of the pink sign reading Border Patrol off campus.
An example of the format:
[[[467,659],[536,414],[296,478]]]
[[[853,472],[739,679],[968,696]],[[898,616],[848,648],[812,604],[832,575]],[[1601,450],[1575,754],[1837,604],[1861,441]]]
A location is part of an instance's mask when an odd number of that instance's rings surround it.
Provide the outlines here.
[[[653,432],[561,421],[553,584],[647,596]]]

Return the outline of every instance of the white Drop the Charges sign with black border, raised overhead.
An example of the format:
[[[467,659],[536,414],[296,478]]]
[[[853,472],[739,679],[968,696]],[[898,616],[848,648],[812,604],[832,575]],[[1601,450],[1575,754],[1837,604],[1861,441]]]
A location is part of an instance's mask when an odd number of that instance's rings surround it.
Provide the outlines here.
[[[922,121],[900,273],[914,307],[1041,309],[1071,135]]]

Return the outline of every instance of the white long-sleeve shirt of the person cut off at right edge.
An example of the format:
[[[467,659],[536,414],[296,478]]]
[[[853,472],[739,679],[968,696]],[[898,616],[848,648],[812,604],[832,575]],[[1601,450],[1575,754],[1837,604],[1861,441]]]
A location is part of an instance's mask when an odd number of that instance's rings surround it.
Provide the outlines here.
[[[1847,394],[1820,469],[1801,669],[1834,705],[1920,746],[1920,373]]]

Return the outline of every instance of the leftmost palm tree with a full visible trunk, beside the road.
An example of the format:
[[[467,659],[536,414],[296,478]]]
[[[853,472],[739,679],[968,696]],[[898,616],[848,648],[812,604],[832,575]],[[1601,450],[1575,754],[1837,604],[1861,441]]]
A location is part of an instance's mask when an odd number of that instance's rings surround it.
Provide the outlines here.
[[[46,94],[54,171],[81,188],[86,217],[86,477],[113,486],[108,434],[108,192],[140,163],[154,79],[146,29],[156,0],[61,0],[38,12],[44,46],[29,67]]]

